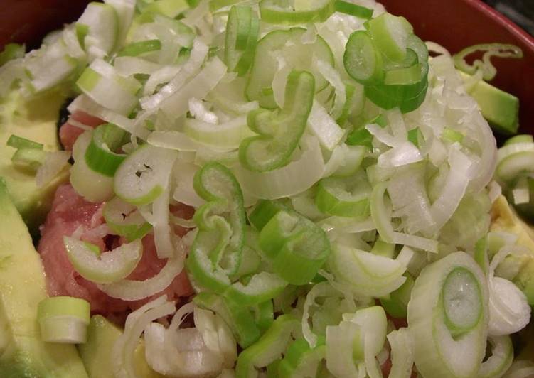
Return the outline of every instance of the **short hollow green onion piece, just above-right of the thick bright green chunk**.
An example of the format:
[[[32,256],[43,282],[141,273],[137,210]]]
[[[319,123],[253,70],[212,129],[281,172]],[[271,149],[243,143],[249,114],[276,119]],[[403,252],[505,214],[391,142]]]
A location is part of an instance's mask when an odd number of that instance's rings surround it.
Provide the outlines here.
[[[325,214],[367,217],[370,215],[370,192],[364,171],[347,178],[324,178],[319,181],[315,204]]]

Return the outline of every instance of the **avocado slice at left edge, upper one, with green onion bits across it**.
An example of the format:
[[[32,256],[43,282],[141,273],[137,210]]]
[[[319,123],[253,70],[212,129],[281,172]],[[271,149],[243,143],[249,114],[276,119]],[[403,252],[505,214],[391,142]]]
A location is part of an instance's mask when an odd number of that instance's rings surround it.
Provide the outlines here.
[[[4,178],[14,205],[32,234],[36,234],[50,210],[55,189],[68,180],[68,171],[43,188],[37,188],[35,172],[24,171],[11,163],[16,149],[6,146],[6,141],[15,134],[43,144],[46,151],[57,151],[60,146],[56,122],[65,98],[61,90],[55,90],[26,100],[14,90],[0,99],[0,177]]]

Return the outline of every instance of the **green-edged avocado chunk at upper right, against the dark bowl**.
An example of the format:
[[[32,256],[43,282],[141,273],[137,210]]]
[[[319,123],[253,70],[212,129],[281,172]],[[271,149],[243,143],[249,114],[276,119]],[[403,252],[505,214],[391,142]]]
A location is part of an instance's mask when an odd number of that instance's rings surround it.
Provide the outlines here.
[[[465,72],[459,72],[464,81],[471,77]],[[482,116],[494,130],[502,134],[516,134],[519,126],[519,99],[516,96],[482,80],[468,93],[479,104]]]

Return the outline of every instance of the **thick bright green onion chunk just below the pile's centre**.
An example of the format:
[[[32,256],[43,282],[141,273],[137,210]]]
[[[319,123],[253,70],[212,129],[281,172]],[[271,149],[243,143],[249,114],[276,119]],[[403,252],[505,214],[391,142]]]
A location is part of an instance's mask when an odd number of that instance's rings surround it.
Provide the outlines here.
[[[260,232],[260,247],[289,284],[307,284],[324,264],[330,243],[323,229],[297,212],[281,210]]]

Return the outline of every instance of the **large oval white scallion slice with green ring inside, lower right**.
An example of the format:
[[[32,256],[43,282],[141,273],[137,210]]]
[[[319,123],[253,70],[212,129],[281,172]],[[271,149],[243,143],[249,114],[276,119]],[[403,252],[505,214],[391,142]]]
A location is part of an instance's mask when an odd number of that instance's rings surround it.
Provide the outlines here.
[[[425,267],[408,303],[415,365],[429,377],[475,377],[486,352],[486,277],[464,252]]]

